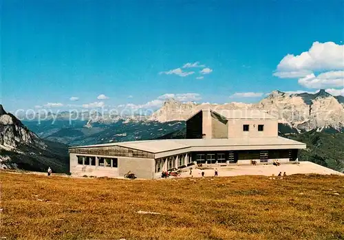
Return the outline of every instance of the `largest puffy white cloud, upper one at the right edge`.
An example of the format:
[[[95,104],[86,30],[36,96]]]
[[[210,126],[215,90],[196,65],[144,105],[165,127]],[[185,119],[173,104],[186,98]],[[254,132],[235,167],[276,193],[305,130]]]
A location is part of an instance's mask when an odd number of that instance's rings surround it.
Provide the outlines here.
[[[339,69],[344,69],[344,45],[337,45],[333,42],[314,42],[308,52],[297,56],[288,54],[277,65],[277,72],[283,72],[285,76],[286,72],[302,73]]]

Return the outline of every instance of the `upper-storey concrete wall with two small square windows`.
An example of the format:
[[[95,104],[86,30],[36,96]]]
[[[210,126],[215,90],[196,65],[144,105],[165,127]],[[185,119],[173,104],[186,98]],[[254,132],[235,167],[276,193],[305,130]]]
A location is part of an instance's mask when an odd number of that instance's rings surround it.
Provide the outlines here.
[[[243,131],[243,125],[248,124],[249,131]],[[258,125],[264,125],[264,131],[258,131]],[[232,119],[228,120],[228,138],[241,137],[277,137],[278,136],[278,120],[248,120],[248,119]]]

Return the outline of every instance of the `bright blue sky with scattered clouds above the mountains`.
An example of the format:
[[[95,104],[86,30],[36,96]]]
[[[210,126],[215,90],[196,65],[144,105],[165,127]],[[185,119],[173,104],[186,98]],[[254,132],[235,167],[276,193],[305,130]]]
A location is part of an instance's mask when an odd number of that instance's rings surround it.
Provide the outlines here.
[[[338,95],[343,25],[340,0],[3,0],[1,103],[150,107],[164,94],[217,103],[255,102],[274,89]],[[310,61],[298,57],[316,42]],[[287,54],[294,58],[279,64]]]

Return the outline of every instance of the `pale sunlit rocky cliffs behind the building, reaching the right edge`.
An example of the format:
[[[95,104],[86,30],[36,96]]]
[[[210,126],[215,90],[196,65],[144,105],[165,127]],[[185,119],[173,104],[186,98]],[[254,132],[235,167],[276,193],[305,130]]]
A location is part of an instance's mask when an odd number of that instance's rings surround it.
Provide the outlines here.
[[[186,120],[200,109],[262,110],[278,117],[280,124],[299,132],[312,129],[343,131],[344,128],[343,96],[334,97],[325,90],[316,94],[288,94],[282,91],[272,91],[266,98],[253,104],[242,102],[230,102],[224,105],[196,104],[195,102],[182,103],[171,99],[166,101],[162,108],[155,111],[149,120],[158,122]]]

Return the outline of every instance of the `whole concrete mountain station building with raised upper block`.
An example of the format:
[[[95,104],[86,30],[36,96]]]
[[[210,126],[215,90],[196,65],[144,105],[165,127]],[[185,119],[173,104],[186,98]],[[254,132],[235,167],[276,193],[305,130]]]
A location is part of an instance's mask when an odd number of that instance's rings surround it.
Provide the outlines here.
[[[297,159],[306,145],[278,136],[278,119],[258,110],[200,110],[186,120],[186,139],[114,142],[69,148],[72,175],[155,179],[191,164],[251,164]]]

